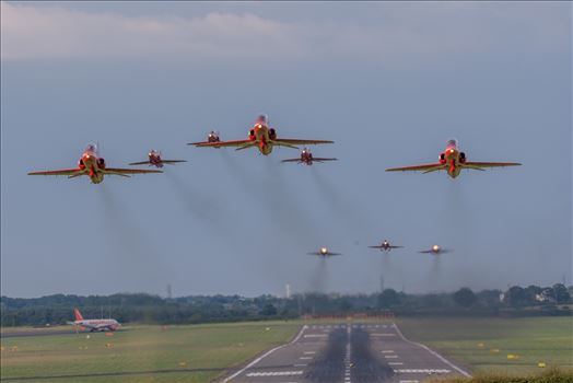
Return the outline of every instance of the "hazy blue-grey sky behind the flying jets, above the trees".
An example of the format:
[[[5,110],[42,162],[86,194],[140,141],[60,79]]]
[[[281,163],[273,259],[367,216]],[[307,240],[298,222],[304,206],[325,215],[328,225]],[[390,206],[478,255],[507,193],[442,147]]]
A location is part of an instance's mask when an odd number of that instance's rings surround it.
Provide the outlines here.
[[[1,2],[1,293],[284,294],[572,280],[570,2]],[[293,149],[186,146],[331,139]],[[386,173],[436,161],[523,166]],[[97,142],[187,163],[32,177]],[[367,248],[387,239],[405,248]],[[433,244],[453,249],[419,254]],[[343,256],[307,255],[328,246]]]

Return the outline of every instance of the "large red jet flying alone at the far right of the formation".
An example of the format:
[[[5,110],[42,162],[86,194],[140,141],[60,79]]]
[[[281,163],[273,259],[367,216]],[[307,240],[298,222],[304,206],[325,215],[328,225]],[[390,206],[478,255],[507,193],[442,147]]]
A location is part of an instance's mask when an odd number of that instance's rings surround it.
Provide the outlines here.
[[[437,163],[430,163],[424,165],[413,165],[405,167],[387,169],[386,172],[406,172],[417,171],[423,173],[447,171],[447,174],[455,178],[459,175],[463,169],[472,169],[483,171],[487,167],[502,167],[502,166],[518,166],[517,162],[472,162],[467,161],[466,153],[459,151],[457,140],[447,141],[446,149],[440,154]]]

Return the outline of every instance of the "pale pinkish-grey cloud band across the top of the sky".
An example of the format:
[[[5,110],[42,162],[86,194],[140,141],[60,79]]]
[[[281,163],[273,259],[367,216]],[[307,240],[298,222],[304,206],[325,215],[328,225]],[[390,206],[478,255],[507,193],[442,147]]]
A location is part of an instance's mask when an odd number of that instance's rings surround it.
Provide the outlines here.
[[[257,15],[253,7],[243,13],[156,16],[2,2],[1,54],[2,60],[291,62],[571,49],[571,12],[563,12],[569,4],[375,3],[361,4],[351,16],[334,12],[329,18],[337,7],[325,4],[326,15],[314,20],[279,21]]]

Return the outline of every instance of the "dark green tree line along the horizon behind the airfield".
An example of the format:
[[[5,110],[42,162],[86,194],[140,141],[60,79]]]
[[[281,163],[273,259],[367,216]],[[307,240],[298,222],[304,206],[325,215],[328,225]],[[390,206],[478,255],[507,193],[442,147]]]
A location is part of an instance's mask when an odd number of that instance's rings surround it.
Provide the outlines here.
[[[22,299],[0,297],[1,326],[45,326],[85,318],[113,317],[120,323],[194,324],[291,320],[303,315],[391,312],[395,315],[571,315],[573,287],[514,286],[506,291],[409,294],[386,289],[372,294],[301,293],[291,298],[260,295],[189,295],[166,299],[147,293],[113,295],[54,294]]]

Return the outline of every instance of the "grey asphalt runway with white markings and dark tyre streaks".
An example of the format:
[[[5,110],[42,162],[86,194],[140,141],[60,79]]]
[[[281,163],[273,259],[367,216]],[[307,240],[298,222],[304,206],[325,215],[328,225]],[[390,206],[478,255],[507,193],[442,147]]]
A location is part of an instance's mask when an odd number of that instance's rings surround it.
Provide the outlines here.
[[[222,383],[417,383],[469,373],[389,324],[305,325]]]

